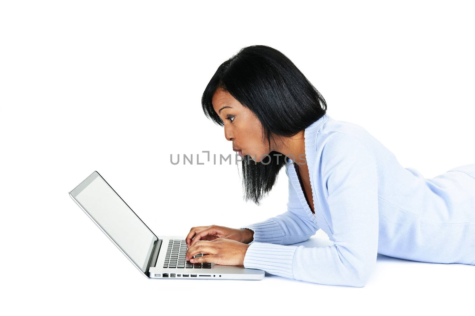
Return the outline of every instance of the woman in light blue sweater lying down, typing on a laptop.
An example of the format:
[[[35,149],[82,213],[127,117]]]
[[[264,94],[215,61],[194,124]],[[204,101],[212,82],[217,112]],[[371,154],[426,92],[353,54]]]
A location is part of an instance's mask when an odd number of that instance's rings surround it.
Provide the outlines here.
[[[222,63],[202,106],[244,157],[246,199],[259,204],[284,165],[289,199],[285,213],[260,223],[191,228],[190,262],[354,287],[366,285],[377,253],[475,264],[475,163],[432,179],[403,168],[364,128],[328,116],[322,95],[268,46]],[[288,245],[319,228],[332,246]]]

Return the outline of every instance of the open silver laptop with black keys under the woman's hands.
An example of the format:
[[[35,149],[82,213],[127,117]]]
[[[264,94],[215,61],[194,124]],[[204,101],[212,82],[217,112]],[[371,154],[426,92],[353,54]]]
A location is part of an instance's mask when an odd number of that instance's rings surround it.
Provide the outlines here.
[[[227,280],[264,278],[264,271],[244,266],[187,262],[185,237],[153,234],[96,171],[69,192],[69,195],[145,277]],[[203,254],[199,253],[196,256],[201,255]]]

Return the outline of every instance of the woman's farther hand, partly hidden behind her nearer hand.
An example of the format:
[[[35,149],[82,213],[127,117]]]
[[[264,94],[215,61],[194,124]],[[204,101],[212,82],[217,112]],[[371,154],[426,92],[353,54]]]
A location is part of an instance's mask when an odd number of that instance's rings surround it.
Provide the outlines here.
[[[240,243],[248,244],[253,240],[254,232],[250,229],[236,229],[224,226],[198,226],[190,229],[186,236],[186,245],[194,245],[199,240],[215,240],[216,238],[225,238],[236,240]]]

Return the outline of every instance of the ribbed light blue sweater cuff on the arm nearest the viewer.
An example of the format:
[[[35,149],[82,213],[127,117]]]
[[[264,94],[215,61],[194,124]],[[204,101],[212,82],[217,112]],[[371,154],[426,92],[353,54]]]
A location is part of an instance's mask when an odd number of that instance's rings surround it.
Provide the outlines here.
[[[264,270],[284,278],[294,279],[292,263],[297,246],[253,243],[244,256],[244,267]]]

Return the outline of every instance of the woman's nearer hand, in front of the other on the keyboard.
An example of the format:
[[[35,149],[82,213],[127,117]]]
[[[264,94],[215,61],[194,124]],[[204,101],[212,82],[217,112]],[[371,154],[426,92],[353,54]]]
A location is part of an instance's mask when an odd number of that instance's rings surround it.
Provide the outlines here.
[[[231,239],[199,240],[188,248],[186,260],[191,263],[211,262],[222,265],[244,265],[247,248],[249,248],[248,244]],[[193,258],[198,253],[203,253],[203,255]]]

